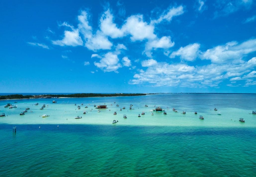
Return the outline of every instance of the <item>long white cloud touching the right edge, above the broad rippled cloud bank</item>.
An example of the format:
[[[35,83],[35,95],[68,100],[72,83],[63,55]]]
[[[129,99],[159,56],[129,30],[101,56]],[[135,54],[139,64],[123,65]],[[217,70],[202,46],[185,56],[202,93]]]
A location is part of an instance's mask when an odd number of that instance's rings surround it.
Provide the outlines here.
[[[203,52],[201,59],[211,60],[212,63],[239,61],[244,55],[256,51],[256,39],[247,40],[241,44],[228,42]]]

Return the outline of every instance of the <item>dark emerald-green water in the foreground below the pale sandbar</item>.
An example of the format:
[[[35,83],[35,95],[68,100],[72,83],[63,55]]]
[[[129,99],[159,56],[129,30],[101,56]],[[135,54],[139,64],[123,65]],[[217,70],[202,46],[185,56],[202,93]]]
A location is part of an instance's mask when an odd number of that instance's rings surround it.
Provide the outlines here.
[[[0,126],[4,176],[254,176],[253,128]]]

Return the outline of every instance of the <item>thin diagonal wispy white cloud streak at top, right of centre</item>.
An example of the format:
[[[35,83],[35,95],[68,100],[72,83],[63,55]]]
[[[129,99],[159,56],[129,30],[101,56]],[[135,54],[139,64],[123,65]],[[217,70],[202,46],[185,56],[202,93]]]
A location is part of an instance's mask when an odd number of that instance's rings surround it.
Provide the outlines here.
[[[167,13],[163,13],[157,20],[152,20],[151,24],[160,23],[163,20],[171,21],[174,16],[182,15],[183,13],[183,6],[170,7]]]

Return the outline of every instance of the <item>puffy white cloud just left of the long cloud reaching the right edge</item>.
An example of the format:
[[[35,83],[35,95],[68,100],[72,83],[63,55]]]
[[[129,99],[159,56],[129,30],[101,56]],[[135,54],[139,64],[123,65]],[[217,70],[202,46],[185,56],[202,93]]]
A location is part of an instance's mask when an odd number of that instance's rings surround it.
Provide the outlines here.
[[[199,55],[199,47],[200,44],[198,43],[190,44],[185,47],[180,47],[179,50],[172,52],[169,57],[175,58],[176,56],[180,56],[181,59],[193,61]]]

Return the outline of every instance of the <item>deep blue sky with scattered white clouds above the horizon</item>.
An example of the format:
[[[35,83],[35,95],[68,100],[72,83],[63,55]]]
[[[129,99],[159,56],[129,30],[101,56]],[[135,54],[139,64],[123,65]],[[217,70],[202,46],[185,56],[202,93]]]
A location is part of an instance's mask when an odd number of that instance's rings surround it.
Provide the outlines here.
[[[255,8],[1,1],[0,93],[255,93]]]

